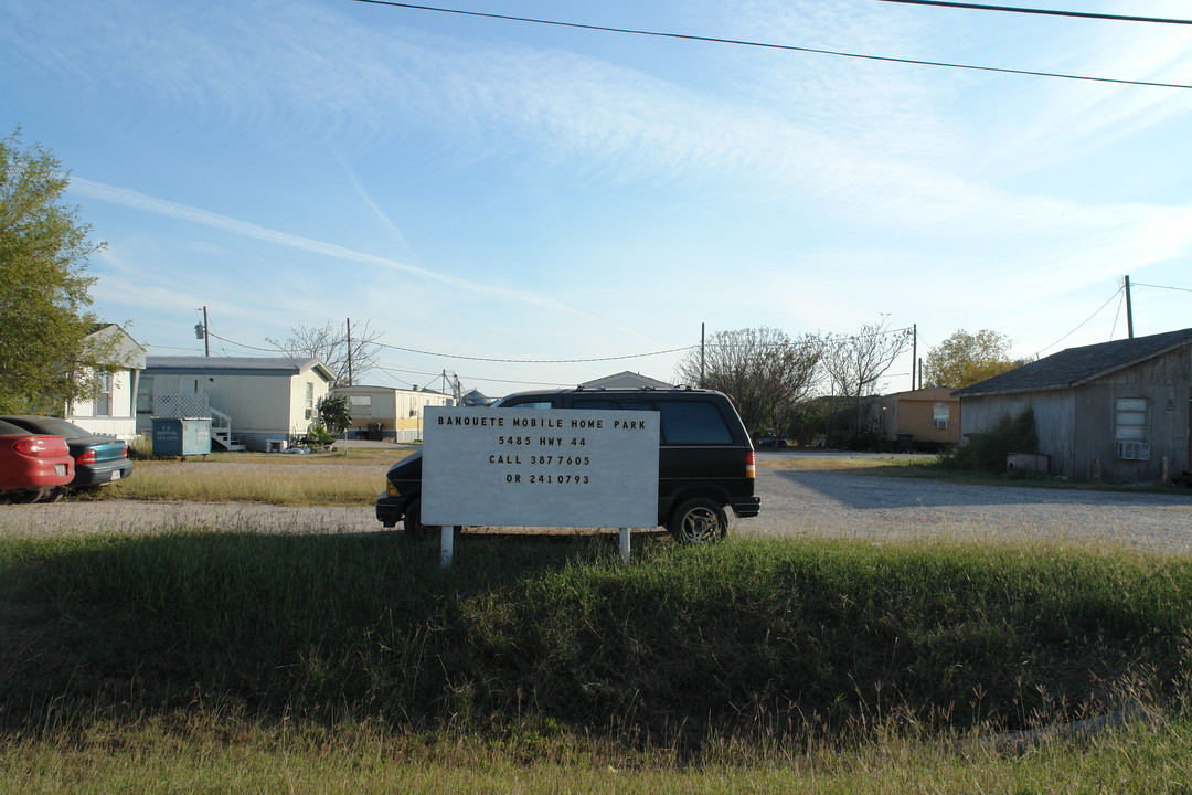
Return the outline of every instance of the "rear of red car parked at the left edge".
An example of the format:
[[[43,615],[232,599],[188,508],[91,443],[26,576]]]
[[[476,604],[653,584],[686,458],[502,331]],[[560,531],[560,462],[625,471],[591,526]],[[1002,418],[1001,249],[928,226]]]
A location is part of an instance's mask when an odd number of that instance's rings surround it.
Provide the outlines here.
[[[56,499],[72,479],[74,459],[67,440],[0,420],[0,502]]]

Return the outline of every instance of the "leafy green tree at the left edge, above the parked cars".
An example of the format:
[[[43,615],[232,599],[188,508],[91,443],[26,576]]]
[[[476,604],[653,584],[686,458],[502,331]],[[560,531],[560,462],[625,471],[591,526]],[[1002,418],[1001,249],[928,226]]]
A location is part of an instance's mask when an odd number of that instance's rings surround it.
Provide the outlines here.
[[[0,138],[0,411],[60,412],[113,372],[95,329],[85,274],[103,248],[77,209],[63,204],[69,175],[18,128]]]

